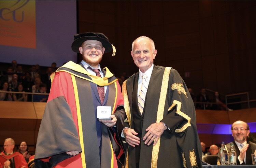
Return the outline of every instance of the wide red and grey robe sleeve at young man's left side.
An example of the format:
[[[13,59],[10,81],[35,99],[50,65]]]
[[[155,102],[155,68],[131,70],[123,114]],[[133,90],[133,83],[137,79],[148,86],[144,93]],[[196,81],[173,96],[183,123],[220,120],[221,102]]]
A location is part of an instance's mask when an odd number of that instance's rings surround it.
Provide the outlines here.
[[[37,167],[53,167],[72,157],[66,152],[82,151],[74,108],[74,90],[70,74],[56,73],[38,133],[35,149]]]

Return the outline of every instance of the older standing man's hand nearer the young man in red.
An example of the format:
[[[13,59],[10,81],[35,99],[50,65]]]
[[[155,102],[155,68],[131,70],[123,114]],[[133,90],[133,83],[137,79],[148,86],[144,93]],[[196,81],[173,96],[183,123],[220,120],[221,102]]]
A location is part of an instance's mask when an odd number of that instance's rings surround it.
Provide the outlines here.
[[[140,144],[140,138],[137,137],[138,133],[131,128],[125,128],[123,130],[123,134],[125,135],[125,141],[132,147]]]

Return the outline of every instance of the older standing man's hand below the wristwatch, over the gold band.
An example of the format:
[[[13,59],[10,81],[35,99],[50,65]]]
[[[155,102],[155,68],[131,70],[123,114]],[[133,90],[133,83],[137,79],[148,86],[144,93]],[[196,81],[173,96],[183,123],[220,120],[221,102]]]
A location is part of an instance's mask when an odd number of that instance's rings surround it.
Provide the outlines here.
[[[143,137],[144,143],[148,146],[154,141],[154,146],[156,145],[159,137],[162,135],[163,131],[165,131],[167,127],[163,122],[151,124],[146,131],[148,131]]]

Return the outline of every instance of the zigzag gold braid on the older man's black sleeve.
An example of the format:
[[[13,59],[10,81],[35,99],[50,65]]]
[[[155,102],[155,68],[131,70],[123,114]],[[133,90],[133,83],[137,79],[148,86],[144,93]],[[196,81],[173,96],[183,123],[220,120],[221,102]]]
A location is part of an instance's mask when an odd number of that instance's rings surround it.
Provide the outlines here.
[[[176,113],[179,114],[180,116],[182,116],[183,118],[185,118],[185,119],[187,120],[187,123],[186,123],[184,126],[182,126],[180,129],[175,129],[175,132],[182,132],[182,131],[184,131],[185,129],[187,129],[187,127],[190,127],[190,126],[191,126],[191,124],[190,124],[191,118],[190,118],[188,115],[186,115],[185,113],[183,113],[183,112],[181,111],[181,102],[180,102],[180,101],[177,101],[177,100],[173,100],[173,103],[172,103],[172,105],[169,107],[168,111],[170,111],[170,110],[171,110],[174,106],[176,106],[176,105],[177,105],[177,107],[176,107]]]

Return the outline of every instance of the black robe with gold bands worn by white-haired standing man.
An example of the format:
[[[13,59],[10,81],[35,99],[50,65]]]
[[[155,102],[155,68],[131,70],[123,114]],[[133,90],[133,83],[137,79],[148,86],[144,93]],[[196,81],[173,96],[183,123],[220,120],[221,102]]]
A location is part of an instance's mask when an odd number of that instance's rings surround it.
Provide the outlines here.
[[[133,74],[123,83],[126,114],[115,114],[118,132],[129,127],[138,132],[139,146],[128,146],[126,168],[190,168],[201,167],[201,145],[196,128],[193,100],[179,75],[171,68],[154,66],[149,81],[142,116],[138,107],[138,77]],[[156,122],[164,122],[166,129],[153,147],[144,144],[146,128]],[[122,127],[123,126],[123,127]]]

